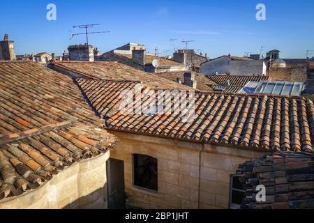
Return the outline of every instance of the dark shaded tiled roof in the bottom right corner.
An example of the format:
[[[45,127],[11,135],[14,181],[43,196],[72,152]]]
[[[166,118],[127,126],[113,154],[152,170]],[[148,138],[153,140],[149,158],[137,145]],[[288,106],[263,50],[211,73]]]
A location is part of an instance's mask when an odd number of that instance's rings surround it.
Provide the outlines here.
[[[246,189],[241,208],[314,208],[313,153],[273,153],[240,165]],[[266,201],[257,201],[255,187],[264,185]]]

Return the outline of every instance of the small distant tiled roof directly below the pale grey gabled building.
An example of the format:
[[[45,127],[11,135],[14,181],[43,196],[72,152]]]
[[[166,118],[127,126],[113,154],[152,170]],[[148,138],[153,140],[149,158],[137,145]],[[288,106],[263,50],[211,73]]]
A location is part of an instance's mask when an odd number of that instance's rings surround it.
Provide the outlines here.
[[[209,79],[218,84],[225,86],[230,81],[231,86],[245,86],[248,82],[260,82],[262,80],[271,80],[269,76],[236,76],[236,75],[207,75]]]

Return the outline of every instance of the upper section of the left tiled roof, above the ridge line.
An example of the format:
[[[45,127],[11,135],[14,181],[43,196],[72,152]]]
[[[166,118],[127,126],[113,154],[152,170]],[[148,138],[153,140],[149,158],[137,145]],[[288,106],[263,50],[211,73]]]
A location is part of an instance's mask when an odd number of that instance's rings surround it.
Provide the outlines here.
[[[70,77],[35,62],[0,63],[0,137],[68,120],[101,125]]]

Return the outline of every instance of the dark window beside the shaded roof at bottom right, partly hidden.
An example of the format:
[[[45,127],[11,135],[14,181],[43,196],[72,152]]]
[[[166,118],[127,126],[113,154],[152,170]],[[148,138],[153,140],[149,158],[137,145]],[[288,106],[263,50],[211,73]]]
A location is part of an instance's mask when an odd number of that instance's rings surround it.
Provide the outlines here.
[[[237,175],[232,175],[230,178],[230,209],[239,209],[246,196],[246,190],[239,178],[240,176]]]

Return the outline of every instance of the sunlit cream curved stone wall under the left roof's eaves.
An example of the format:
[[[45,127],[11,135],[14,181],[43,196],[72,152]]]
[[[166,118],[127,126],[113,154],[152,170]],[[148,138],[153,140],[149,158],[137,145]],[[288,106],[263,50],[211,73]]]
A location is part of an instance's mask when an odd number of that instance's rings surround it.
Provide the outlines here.
[[[38,189],[0,201],[0,209],[107,208],[110,152],[73,164]]]

